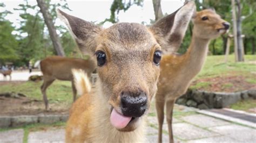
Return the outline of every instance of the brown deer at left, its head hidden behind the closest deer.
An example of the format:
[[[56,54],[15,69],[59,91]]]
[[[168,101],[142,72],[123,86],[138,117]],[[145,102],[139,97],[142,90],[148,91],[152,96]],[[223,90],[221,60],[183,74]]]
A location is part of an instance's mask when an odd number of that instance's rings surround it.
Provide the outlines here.
[[[71,81],[73,90],[73,101],[76,100],[77,90],[73,82],[73,75],[71,69],[83,69],[90,77],[93,70],[96,68],[96,63],[91,58],[88,60],[64,58],[62,56],[49,56],[40,62],[40,68],[43,73],[43,84],[41,91],[43,94],[45,109],[49,109],[48,99],[46,96],[46,89],[53,81]]]

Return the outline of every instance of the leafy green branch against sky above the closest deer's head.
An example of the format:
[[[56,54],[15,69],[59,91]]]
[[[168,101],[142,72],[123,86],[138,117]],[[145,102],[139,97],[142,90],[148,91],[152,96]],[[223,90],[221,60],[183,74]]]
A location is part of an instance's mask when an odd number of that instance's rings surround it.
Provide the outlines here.
[[[134,4],[138,6],[143,6],[143,0],[133,0],[133,1],[130,0],[127,3],[124,0],[113,0],[113,3],[110,8],[110,12],[111,12],[110,18],[105,19],[104,22],[100,24],[104,24],[105,22],[117,23],[118,18],[116,17],[116,14],[118,14],[119,11],[121,10],[125,12]]]

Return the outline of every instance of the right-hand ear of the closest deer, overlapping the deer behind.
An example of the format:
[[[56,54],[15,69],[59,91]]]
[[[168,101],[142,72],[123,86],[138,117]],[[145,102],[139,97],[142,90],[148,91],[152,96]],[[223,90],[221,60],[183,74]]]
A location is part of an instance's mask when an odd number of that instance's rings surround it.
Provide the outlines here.
[[[159,19],[150,30],[164,51],[176,52],[184,38],[187,26],[196,15],[194,2],[187,2],[180,9]]]

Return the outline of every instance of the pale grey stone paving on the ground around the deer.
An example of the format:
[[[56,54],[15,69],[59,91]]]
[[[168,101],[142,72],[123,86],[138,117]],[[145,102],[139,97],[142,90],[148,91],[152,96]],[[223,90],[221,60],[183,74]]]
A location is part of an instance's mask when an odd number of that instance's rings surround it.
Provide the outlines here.
[[[154,110],[147,116],[147,125],[147,142],[157,142],[158,124]],[[166,123],[163,128],[163,141],[168,142]],[[196,109],[181,105],[174,106],[173,133],[176,142],[256,142],[255,128],[202,115]],[[20,128],[0,132],[0,142],[22,142],[24,134],[29,143],[64,142],[65,138],[64,127],[30,130],[28,134]]]

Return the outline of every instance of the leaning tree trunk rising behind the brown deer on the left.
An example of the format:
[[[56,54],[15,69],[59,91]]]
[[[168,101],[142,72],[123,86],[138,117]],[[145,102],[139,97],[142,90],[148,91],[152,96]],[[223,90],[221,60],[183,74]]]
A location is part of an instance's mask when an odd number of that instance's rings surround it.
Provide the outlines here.
[[[57,55],[65,56],[65,53],[63,51],[62,45],[60,44],[60,40],[59,40],[59,37],[58,37],[57,32],[56,32],[56,28],[55,28],[55,26],[52,22],[51,15],[48,12],[48,8],[45,4],[45,1],[44,0],[37,0],[37,4],[38,4],[38,6],[39,6],[39,8],[40,8],[40,10],[43,14],[44,22],[48,27],[50,37],[51,37],[51,40],[52,40],[52,43],[53,43],[53,47],[55,48],[55,50],[57,52]]]

